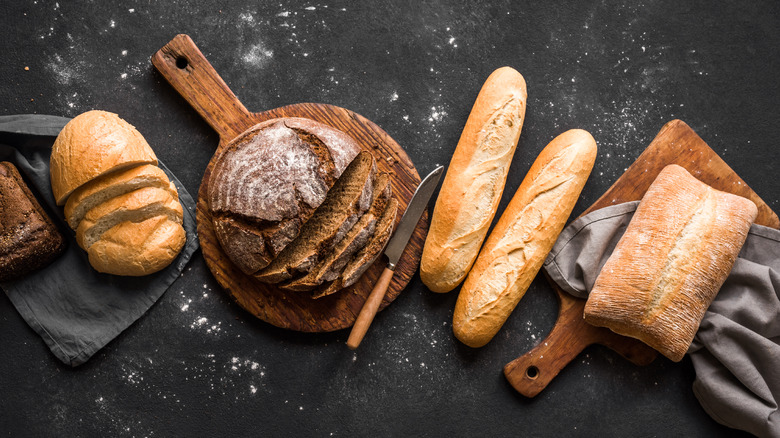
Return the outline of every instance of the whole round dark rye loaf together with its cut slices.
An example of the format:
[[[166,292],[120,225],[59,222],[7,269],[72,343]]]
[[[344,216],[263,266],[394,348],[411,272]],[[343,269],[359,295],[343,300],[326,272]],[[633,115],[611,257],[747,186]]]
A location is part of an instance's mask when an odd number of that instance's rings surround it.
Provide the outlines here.
[[[390,175],[327,125],[269,120],[215,160],[208,198],[217,240],[258,281],[330,295],[356,283],[392,234]]]

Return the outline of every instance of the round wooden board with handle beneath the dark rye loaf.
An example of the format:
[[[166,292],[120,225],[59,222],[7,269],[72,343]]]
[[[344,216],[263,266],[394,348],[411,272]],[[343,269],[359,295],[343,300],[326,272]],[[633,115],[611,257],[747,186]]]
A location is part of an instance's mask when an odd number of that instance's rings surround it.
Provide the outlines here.
[[[217,131],[220,141],[214,157],[233,138],[260,122],[278,117],[304,117],[345,132],[364,150],[371,152],[379,171],[391,176],[393,197],[398,200],[399,211],[406,210],[420,183],[417,169],[403,148],[379,126],[350,110],[321,103],[299,103],[250,113],[187,35],[177,35],[155,53],[152,64]],[[380,257],[354,285],[317,300],[310,298],[308,293],[285,292],[258,282],[231,263],[214,234],[206,196],[214,163],[212,157],[204,172],[196,217],[203,256],[217,282],[241,307],[277,327],[303,332],[351,327],[387,263],[384,257]],[[401,215],[397,215],[396,226],[400,218]],[[398,297],[417,271],[427,230],[426,211],[396,265],[380,310]]]

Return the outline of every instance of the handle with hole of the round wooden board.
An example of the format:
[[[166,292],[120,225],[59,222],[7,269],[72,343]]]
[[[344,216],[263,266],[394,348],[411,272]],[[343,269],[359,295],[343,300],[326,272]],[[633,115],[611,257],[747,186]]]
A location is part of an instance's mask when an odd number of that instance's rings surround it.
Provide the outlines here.
[[[152,55],[152,64],[223,142],[251,126],[247,109],[188,35],[176,35]]]

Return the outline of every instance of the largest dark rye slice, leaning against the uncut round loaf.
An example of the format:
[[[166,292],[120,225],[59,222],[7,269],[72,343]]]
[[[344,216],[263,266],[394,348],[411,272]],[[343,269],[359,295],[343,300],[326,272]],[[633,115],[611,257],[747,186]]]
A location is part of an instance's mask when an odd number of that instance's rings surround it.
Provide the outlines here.
[[[350,163],[325,201],[306,222],[298,237],[268,266],[254,274],[264,283],[279,283],[306,273],[327,254],[371,205],[376,162],[361,152]]]

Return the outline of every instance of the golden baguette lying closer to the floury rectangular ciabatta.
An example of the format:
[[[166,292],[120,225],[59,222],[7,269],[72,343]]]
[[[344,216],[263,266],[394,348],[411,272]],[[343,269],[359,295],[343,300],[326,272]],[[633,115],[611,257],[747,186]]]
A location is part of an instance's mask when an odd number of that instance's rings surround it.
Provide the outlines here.
[[[542,267],[596,160],[581,129],[559,135],[536,159],[480,251],[455,304],[455,337],[487,344]]]

